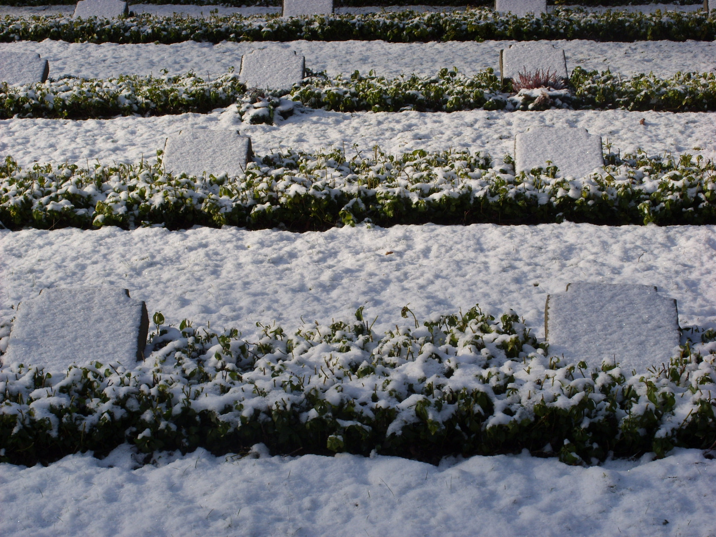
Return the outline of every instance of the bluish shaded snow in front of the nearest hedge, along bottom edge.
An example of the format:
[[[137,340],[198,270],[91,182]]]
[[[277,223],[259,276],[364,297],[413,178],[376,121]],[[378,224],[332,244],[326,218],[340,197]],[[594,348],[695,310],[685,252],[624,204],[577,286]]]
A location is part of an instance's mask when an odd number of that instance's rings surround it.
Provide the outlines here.
[[[256,450],[258,455],[261,450]],[[714,461],[697,450],[570,467],[529,455],[231,458],[126,448],[0,465],[4,536],[716,535]]]

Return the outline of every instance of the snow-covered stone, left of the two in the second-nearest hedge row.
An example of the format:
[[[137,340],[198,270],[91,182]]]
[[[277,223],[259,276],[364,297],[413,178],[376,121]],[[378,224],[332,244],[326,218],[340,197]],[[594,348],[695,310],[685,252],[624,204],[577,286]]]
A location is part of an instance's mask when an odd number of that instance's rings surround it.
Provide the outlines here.
[[[187,130],[167,140],[164,169],[175,175],[236,177],[246,171],[251,154],[251,138],[238,130]]]

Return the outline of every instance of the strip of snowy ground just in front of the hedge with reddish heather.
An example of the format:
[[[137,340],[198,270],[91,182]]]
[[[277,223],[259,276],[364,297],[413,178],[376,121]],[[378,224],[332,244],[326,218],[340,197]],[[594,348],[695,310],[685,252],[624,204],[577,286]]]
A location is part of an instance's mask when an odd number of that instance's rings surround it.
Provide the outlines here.
[[[211,114],[160,117],[118,117],[112,120],[0,120],[0,155],[12,155],[21,165],[37,160],[87,165],[101,162],[135,163],[155,158],[165,140],[189,128],[238,129],[251,137],[258,155],[291,147],[316,151],[344,148],[372,152],[378,145],[399,155],[415,149],[486,151],[495,157],[514,155],[514,139],[529,127],[585,127],[600,135],[616,152],[649,155],[690,153],[716,158],[716,114],[695,112],[628,112],[626,110],[546,110],[544,112],[357,112],[344,114],[306,110],[280,125],[241,123],[235,108]],[[640,120],[644,119],[644,125]]]

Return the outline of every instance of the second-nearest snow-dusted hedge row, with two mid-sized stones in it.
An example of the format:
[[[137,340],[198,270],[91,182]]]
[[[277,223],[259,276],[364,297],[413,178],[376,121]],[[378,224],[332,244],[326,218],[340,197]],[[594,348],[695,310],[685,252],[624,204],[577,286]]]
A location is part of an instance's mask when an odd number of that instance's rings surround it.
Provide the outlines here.
[[[160,153],[160,152],[159,152]],[[324,230],[366,222],[551,223],[609,225],[716,223],[716,165],[644,153],[606,155],[606,167],[585,178],[554,178],[555,166],[513,172],[468,151],[400,157],[356,150],[286,150],[254,158],[246,174],[193,178],[157,163],[79,168],[35,163],[0,165],[0,221],[26,226],[169,228],[244,226]]]

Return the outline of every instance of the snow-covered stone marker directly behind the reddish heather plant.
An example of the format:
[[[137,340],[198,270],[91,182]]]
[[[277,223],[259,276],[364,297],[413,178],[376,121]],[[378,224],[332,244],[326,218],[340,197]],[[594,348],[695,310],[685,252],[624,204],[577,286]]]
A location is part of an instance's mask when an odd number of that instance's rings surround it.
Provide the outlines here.
[[[518,74],[549,72],[558,78],[569,78],[564,50],[551,43],[533,41],[511,44],[500,50],[500,77],[517,79]]]

